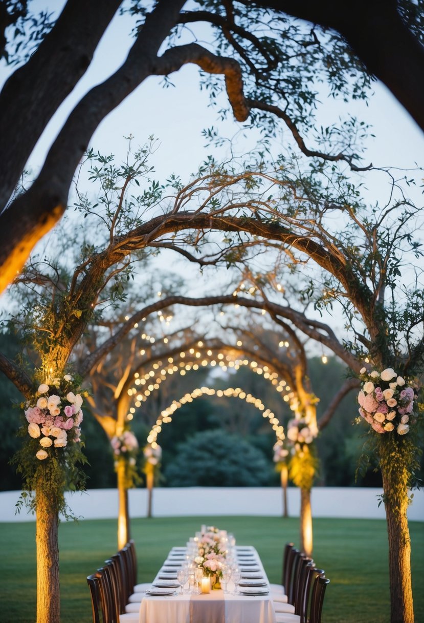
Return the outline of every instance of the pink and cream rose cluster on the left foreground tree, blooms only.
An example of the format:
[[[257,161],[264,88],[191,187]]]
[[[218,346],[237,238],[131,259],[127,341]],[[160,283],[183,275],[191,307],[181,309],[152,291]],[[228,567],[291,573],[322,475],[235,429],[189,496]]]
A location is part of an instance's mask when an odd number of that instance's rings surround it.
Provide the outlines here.
[[[71,391],[72,381],[70,374],[65,374],[63,379],[42,383],[34,401],[25,402],[28,433],[32,439],[39,440],[35,453],[39,460],[47,459],[52,449],[81,441],[83,398],[80,393]]]

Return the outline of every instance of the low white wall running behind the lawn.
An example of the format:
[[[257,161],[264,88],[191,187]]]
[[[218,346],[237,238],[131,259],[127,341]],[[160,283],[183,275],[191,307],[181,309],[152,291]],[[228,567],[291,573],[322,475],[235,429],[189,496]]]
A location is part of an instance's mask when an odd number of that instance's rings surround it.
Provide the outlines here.
[[[315,487],[312,491],[314,517],[351,517],[384,519],[384,505],[378,506],[375,488]],[[0,521],[34,521],[34,515],[22,510],[15,515],[20,492],[0,492]],[[118,494],[116,489],[93,489],[86,493],[68,495],[68,502],[81,519],[116,518]],[[145,517],[147,490],[129,491],[129,509],[132,517]],[[298,516],[300,493],[288,488],[288,513]],[[259,515],[279,516],[282,513],[282,491],[279,487],[187,487],[158,488],[154,490],[153,514],[166,516]],[[424,521],[424,491],[415,491],[408,518]]]

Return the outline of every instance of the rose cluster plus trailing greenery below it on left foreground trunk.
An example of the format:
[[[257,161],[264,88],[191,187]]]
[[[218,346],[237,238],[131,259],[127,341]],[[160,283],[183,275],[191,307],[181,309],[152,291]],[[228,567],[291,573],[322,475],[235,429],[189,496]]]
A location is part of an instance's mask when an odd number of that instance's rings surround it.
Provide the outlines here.
[[[35,374],[35,379],[37,378]],[[34,396],[22,402],[22,426],[18,436],[24,444],[11,459],[22,474],[22,493],[16,503],[35,511],[35,493],[43,493],[52,510],[75,518],[65,502],[65,491],[85,490],[86,475],[81,465],[87,462],[82,452],[80,424],[83,396],[70,374],[40,383]]]

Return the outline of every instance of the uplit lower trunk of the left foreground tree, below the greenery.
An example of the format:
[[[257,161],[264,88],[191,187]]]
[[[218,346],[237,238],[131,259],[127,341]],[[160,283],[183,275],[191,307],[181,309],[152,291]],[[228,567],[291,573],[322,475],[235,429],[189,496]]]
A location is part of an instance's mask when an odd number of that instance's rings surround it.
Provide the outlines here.
[[[60,623],[58,513],[55,497],[35,491],[37,521],[37,623]]]

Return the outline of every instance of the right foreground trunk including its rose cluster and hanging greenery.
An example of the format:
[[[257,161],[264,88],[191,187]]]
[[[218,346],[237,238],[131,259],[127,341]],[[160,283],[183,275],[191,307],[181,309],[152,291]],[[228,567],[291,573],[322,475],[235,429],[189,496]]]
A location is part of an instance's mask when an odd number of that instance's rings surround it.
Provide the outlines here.
[[[389,536],[389,578],[392,621],[414,621],[410,574],[410,535],[407,508],[412,500],[410,488],[417,485],[418,417],[417,393],[413,382],[393,368],[382,371],[362,368],[358,394],[358,422],[369,424],[369,436],[362,450],[359,470],[369,465],[382,474],[384,502]]]

